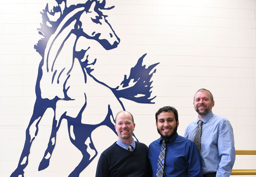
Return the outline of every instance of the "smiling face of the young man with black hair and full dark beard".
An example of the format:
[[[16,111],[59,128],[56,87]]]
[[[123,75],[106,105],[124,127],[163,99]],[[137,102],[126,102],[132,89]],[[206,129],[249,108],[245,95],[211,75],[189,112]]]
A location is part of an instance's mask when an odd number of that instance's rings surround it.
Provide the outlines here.
[[[164,139],[170,139],[177,131],[179,121],[176,122],[174,113],[162,112],[156,122],[157,131]]]

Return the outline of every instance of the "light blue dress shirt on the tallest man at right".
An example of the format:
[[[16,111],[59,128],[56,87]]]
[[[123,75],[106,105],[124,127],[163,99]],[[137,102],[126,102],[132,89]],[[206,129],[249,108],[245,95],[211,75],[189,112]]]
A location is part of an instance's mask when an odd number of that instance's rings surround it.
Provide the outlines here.
[[[201,120],[201,149],[202,172],[217,172],[216,177],[229,177],[236,158],[233,128],[230,122],[212,112],[202,119],[191,122],[186,128],[184,137],[194,141],[197,122]]]

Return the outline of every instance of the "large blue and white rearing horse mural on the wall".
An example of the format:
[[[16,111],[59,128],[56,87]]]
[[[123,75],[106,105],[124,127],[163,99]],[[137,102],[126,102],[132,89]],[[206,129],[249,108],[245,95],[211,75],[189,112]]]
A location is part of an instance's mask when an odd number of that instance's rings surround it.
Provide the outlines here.
[[[36,80],[36,101],[26,130],[23,151],[11,177],[24,176],[24,169],[29,163],[31,145],[40,131],[38,125],[47,109],[54,111],[52,130],[38,170],[44,170],[49,166],[58,141],[56,134],[62,120],[65,119],[69,139],[83,155],[80,163],[69,175],[77,177],[97,156],[91,137],[92,131],[105,125],[116,133],[111,103],[105,103],[105,108],[102,108],[105,109],[105,115],[97,115],[97,120],[102,120],[99,123],[91,125],[83,121],[83,119],[89,119],[86,111],[90,109],[90,89],[97,90],[102,88],[97,86],[103,86],[111,93],[108,96],[115,98],[120,110],[125,110],[120,98],[142,104],[154,104],[152,100],[155,97],[151,97],[152,91],[150,91],[151,77],[156,72],[154,67],[158,63],[146,68],[142,65],[146,54],[138,59],[135,66],[130,69],[129,77],[124,75],[123,81],[117,87],[112,88],[93,75],[92,67],[97,59],[93,61],[89,59],[89,50],[93,47],[90,41],[96,41],[105,50],[114,49],[120,43],[120,39],[106,19],[107,16],[102,13],[102,10],[110,10],[114,6],[105,7],[105,0],[88,0],[83,4],[72,4],[69,7],[66,0],[56,0],[56,2],[57,5],[52,10],[49,10],[47,4],[41,12],[42,23],[38,30],[42,39],[34,46],[42,56]],[[88,40],[88,43],[84,42]],[[79,76],[83,76],[82,79]],[[76,85],[77,83],[79,86]],[[97,91],[101,92],[101,90]],[[61,107],[59,105],[61,101],[77,105],[76,109],[73,108],[76,113],[74,111],[70,113],[67,107]],[[32,127],[36,127],[35,132],[31,131]]]

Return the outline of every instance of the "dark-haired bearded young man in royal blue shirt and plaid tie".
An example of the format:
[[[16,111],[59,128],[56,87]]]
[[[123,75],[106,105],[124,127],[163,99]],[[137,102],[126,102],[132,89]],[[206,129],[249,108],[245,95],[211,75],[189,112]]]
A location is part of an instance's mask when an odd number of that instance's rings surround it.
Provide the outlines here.
[[[158,156],[163,140],[167,140],[163,176],[202,177],[201,159],[195,144],[177,134],[179,126],[177,110],[170,106],[162,107],[156,112],[155,118],[157,131],[161,137],[148,147],[152,177],[156,177]]]

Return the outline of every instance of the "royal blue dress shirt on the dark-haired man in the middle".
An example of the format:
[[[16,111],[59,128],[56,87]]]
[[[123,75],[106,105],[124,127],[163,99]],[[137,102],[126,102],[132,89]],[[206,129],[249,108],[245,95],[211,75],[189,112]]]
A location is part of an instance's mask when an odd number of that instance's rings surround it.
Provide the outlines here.
[[[148,147],[148,158],[152,167],[152,177],[156,176],[158,156],[162,140],[153,141]],[[174,134],[166,143],[164,172],[165,177],[202,177],[201,159],[195,143]]]

